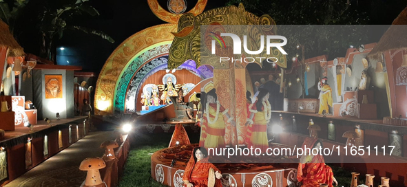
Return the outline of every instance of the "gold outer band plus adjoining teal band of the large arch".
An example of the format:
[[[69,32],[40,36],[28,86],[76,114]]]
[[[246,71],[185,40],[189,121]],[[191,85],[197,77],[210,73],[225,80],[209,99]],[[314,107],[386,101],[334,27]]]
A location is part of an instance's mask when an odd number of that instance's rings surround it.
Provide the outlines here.
[[[164,49],[165,45],[169,45],[174,39],[171,32],[176,32],[176,27],[175,23],[169,23],[147,28],[133,34],[114,50],[103,65],[96,82],[94,102],[96,113],[101,115],[112,113],[116,105],[114,101],[117,88],[127,88],[128,85],[123,83],[128,83],[142,65],[158,56],[168,54],[166,50],[157,52],[154,49],[158,46],[163,46],[161,49]],[[132,74],[129,75],[129,73]],[[118,98],[123,100],[123,108],[124,99],[124,97]],[[116,109],[121,109],[120,107]]]

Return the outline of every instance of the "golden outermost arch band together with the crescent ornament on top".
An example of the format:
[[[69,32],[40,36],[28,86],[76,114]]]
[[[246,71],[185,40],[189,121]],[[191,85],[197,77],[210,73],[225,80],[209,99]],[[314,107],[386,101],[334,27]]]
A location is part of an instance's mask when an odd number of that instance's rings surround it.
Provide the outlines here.
[[[147,0],[147,2],[152,12],[169,24],[156,25],[133,34],[116,47],[116,50],[107,58],[96,82],[94,108],[98,114],[103,115],[114,111],[116,90],[121,76],[134,58],[158,45],[171,44],[174,39],[171,33],[176,32],[176,23],[183,14],[173,14],[164,10],[157,0]],[[203,12],[206,5],[207,0],[198,0],[194,8],[187,13],[196,16]],[[134,71],[137,72],[142,66],[143,62],[140,62]]]

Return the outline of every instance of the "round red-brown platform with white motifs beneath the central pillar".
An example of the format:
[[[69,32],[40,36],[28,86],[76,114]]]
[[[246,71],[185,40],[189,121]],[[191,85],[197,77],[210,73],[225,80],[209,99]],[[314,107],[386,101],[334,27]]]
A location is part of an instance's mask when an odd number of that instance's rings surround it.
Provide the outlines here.
[[[167,186],[181,187],[185,166],[198,144],[164,148],[152,155],[151,175]],[[175,164],[171,162],[176,159]],[[223,175],[222,186],[300,186],[298,164],[213,163]]]

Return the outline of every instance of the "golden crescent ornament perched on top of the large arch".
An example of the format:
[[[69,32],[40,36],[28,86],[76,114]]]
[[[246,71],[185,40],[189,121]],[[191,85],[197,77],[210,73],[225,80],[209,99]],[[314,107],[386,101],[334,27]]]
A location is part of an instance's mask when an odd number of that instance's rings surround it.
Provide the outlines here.
[[[195,16],[202,13],[207,5],[207,0],[198,0],[194,8],[189,10],[187,13],[194,14]],[[157,0],[148,0],[148,5],[153,13],[161,20],[167,23],[178,23],[178,20],[183,14],[173,14],[168,12],[160,6]]]

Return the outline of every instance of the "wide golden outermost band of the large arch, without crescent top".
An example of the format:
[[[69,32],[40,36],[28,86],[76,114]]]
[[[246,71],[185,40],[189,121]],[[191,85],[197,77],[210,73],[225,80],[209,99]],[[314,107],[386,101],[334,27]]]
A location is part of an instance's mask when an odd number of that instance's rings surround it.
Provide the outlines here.
[[[129,63],[138,55],[149,48],[162,43],[171,43],[176,32],[176,24],[168,23],[156,25],[136,34],[123,41],[114,52],[107,58],[101,74],[96,82],[95,89],[95,112],[103,115],[114,111],[114,96],[119,78],[128,67]],[[140,64],[138,66],[141,66]]]

